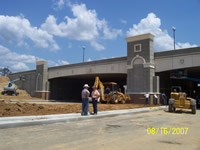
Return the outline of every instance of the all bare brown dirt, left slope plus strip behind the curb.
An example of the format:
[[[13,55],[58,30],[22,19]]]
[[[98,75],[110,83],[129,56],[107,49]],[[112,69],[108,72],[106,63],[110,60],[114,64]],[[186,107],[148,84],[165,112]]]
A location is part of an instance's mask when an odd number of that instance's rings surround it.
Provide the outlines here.
[[[6,86],[10,82],[8,77],[0,76],[0,87]],[[16,85],[14,85],[17,87]],[[3,88],[0,88],[0,93]],[[44,101],[31,97],[25,90],[17,89],[16,95],[0,95],[0,117],[8,116],[29,116],[29,115],[50,115],[81,113],[81,103],[57,103],[55,101]],[[120,110],[149,107],[144,104],[98,104],[99,111]],[[89,105],[89,112],[92,112],[92,104]]]

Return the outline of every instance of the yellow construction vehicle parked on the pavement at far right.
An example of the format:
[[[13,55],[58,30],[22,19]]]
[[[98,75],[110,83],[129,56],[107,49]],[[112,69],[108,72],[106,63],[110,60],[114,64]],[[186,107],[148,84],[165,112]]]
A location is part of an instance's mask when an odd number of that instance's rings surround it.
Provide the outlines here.
[[[178,90],[177,90],[178,89]],[[169,99],[169,112],[175,112],[176,108],[191,109],[192,114],[196,114],[196,100],[186,97],[185,92],[181,92],[181,87],[174,87]]]

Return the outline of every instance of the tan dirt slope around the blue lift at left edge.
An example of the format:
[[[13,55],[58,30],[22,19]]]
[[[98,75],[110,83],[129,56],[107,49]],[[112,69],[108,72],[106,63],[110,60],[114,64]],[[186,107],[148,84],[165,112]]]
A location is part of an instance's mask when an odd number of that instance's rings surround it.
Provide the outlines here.
[[[8,77],[5,76],[0,76],[0,93],[3,91],[4,86],[7,86],[8,83],[10,82]],[[10,100],[10,99],[16,99],[16,100],[26,100],[26,99],[33,99],[25,90],[18,89],[15,84],[13,86],[16,87],[17,92],[19,93],[18,96],[15,95],[1,95],[0,94],[0,99],[3,100]],[[34,98],[36,99],[36,98]]]

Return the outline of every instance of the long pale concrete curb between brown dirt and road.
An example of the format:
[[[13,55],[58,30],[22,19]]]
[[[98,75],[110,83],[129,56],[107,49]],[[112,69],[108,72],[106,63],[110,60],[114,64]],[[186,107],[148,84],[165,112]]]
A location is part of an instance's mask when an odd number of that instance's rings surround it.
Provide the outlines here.
[[[42,115],[42,116],[22,116],[22,117],[3,117],[0,118],[0,129],[16,128],[24,126],[52,124],[58,122],[72,122],[89,119],[99,119],[104,117],[114,117],[118,115],[137,114],[144,112],[152,112],[157,110],[164,110],[167,106],[160,107],[145,107],[136,109],[113,110],[99,112],[97,116],[81,116],[79,113],[74,114],[60,114],[60,115]]]

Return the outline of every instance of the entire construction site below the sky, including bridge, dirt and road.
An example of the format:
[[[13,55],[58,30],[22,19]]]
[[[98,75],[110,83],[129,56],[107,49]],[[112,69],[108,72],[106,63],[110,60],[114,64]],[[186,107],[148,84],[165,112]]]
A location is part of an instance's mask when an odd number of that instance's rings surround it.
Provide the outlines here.
[[[126,57],[0,76],[0,149],[199,150],[200,47],[154,53],[153,38],[126,38]]]

